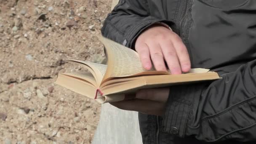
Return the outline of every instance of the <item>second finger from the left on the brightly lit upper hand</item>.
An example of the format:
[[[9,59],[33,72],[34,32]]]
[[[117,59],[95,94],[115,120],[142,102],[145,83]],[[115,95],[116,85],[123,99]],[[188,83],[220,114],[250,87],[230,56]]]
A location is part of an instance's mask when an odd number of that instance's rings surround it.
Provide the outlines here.
[[[158,71],[167,71],[165,67],[163,52],[160,45],[158,43],[155,43],[155,41],[149,41],[148,45],[150,57],[155,66],[155,69]]]

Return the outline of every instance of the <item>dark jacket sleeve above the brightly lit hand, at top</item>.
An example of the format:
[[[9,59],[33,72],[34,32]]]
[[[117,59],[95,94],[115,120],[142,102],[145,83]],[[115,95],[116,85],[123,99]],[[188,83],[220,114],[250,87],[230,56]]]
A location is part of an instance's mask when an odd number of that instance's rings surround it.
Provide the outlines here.
[[[156,22],[172,24],[171,21],[150,16],[147,0],[120,0],[105,19],[101,33],[131,48],[139,34]]]

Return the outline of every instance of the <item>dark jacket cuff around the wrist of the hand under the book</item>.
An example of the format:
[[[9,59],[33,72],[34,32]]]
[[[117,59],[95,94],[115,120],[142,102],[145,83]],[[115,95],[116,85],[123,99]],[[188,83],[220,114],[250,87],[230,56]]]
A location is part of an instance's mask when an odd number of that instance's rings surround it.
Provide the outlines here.
[[[163,131],[183,138],[186,133],[194,101],[199,101],[205,85],[179,85],[170,88],[163,115]]]

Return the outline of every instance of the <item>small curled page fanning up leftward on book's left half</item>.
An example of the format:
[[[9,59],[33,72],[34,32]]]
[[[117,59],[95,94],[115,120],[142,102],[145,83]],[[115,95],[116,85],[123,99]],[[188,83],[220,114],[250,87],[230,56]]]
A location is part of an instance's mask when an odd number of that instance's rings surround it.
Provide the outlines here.
[[[97,63],[93,63],[93,62],[89,62],[89,61],[80,61],[80,60],[74,60],[74,59],[69,59],[69,61],[73,61],[73,62],[77,62],[77,63],[85,65],[85,67],[95,77],[98,86],[100,85],[100,83],[103,80],[103,77],[107,71],[106,64],[97,64]]]

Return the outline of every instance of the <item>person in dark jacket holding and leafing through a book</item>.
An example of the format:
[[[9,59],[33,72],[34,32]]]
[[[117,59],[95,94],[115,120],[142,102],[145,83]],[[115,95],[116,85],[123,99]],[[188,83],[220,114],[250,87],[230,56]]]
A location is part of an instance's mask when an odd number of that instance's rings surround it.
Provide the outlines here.
[[[112,103],[140,112],[144,144],[256,142],[255,10],[255,0],[119,1],[101,32],[134,48],[145,69],[201,67],[222,77]]]

